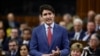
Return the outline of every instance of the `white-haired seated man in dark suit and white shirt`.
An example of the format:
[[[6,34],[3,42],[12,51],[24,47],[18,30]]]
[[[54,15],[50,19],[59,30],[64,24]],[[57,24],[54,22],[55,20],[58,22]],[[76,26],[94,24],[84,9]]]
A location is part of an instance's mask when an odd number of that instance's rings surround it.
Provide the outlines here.
[[[73,21],[74,24],[74,31],[69,33],[69,37],[71,40],[78,40],[82,41],[83,37],[85,36],[85,31],[83,31],[83,22],[81,19],[76,18]]]

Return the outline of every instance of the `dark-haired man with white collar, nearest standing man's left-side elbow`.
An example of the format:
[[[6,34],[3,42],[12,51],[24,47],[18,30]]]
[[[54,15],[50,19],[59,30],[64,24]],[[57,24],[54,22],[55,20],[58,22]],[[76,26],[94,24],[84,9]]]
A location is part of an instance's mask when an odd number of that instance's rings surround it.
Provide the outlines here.
[[[30,28],[27,28],[27,29],[24,29],[23,32],[22,32],[22,44],[26,44],[28,45],[29,44],[29,41],[31,39],[31,29]]]

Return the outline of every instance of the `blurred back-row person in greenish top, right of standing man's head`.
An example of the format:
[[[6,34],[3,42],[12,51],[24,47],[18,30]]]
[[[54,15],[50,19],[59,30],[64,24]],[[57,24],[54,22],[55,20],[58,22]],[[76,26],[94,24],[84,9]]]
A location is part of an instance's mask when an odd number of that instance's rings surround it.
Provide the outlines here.
[[[64,14],[63,15],[63,21],[66,23],[66,29],[68,31],[71,31],[73,28],[73,23],[72,23],[72,16],[70,14]]]

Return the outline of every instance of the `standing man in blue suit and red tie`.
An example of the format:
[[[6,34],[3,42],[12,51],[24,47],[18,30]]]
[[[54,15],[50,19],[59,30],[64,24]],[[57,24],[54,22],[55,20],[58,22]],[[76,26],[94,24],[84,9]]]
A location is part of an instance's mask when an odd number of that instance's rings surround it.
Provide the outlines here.
[[[42,5],[40,14],[44,24],[32,32],[31,56],[68,56],[68,34],[65,28],[54,23],[54,9],[50,5]]]

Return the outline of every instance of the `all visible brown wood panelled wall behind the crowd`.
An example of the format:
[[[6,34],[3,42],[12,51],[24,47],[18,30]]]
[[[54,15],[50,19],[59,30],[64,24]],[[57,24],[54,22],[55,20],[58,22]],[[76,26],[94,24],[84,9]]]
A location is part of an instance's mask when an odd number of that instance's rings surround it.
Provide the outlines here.
[[[84,18],[87,16],[89,10],[94,10],[96,13],[100,13],[100,0],[77,0],[76,7],[77,15]],[[27,22],[31,27],[39,24],[38,16],[16,16],[15,18],[19,22]],[[55,19],[57,23],[61,20],[61,16],[57,16]]]

